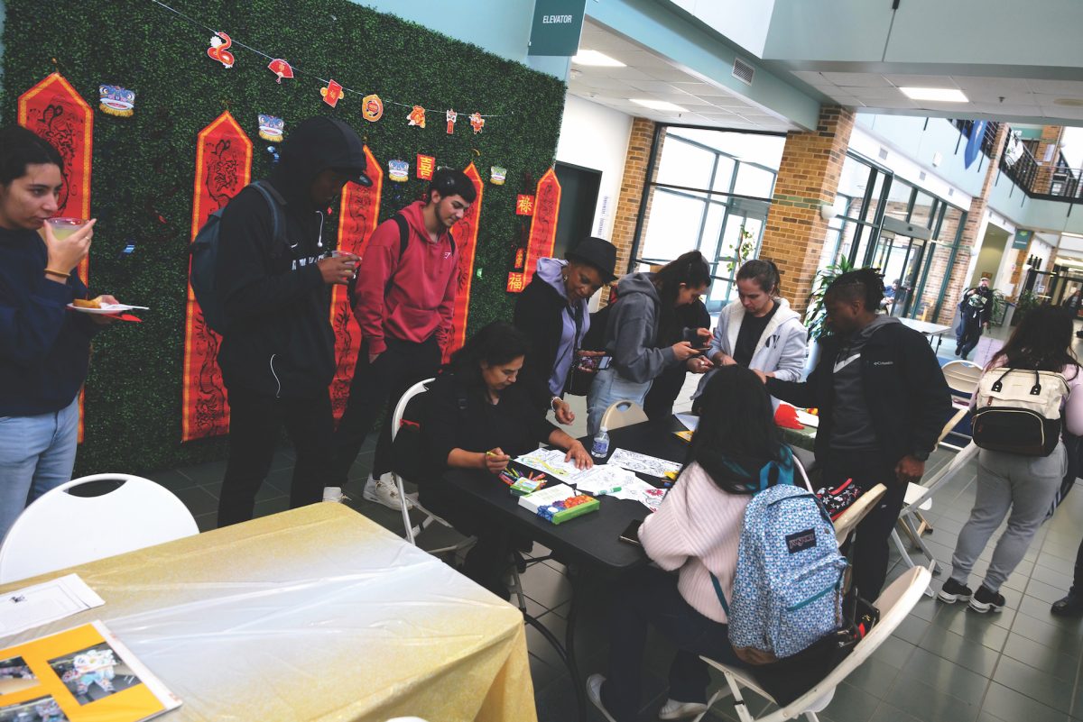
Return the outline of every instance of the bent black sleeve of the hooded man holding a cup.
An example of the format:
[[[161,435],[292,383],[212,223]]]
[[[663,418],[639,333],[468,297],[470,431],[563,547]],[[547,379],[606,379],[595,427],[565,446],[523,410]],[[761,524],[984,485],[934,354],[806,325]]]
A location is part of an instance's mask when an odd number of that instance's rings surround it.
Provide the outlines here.
[[[258,190],[245,188],[237,193],[220,223],[214,285],[231,323],[272,313],[323,285],[315,264],[286,273],[271,272],[275,251],[271,209]]]

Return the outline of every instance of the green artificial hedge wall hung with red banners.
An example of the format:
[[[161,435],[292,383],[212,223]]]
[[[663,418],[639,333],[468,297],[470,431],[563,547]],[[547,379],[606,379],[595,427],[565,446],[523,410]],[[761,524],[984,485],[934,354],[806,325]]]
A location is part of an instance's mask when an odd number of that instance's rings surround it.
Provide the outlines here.
[[[139,473],[225,454],[224,439],[180,442],[195,142],[223,109],[252,139],[253,179],[268,175],[273,161],[271,144],[258,135],[261,112],[283,118],[286,137],[304,118],[330,115],[367,139],[384,173],[388,160],[407,160],[410,180],[384,183],[381,219],[422,196],[416,153],[460,169],[473,160],[486,185],[468,332],[510,318],[514,299],[505,283],[525,223],[514,215],[516,195],[533,193],[524,175],[536,183],[556,155],[563,83],[474,45],[344,0],[167,4],[229,34],[234,67],[207,56],[210,30],[151,0],[6,2],[3,120],[15,122],[18,95],[54,70],[94,108],[91,208],[99,222],[91,289],[153,308],[141,313],[142,324],[117,324],[94,342],[77,474]],[[477,12],[465,8],[448,12]],[[312,76],[276,83],[268,58],[238,42],[344,88],[378,93],[383,118],[365,121],[357,94],[330,108]],[[102,83],[135,91],[134,116],[100,111]],[[389,99],[436,112],[427,128],[409,126],[409,108]],[[454,135],[445,132],[446,108],[459,112]],[[467,117],[475,110],[504,117],[488,118],[475,135]],[[491,165],[508,169],[504,186],[488,183]],[[134,252],[121,256],[129,242]]]

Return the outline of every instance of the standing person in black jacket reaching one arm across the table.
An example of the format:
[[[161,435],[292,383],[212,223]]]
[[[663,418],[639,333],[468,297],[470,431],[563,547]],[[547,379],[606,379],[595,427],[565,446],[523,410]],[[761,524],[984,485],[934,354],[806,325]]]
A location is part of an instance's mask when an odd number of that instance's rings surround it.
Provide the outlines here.
[[[771,396],[820,410],[815,457],[823,485],[852,478],[865,490],[887,486],[858,527],[853,581],[865,599],[879,596],[906,484],[925,473],[952,412],[932,349],[899,319],[876,315],[883,297],[882,277],[871,268],[836,278],[824,297],[833,333],[820,342],[815,370],[801,383],[765,378]]]

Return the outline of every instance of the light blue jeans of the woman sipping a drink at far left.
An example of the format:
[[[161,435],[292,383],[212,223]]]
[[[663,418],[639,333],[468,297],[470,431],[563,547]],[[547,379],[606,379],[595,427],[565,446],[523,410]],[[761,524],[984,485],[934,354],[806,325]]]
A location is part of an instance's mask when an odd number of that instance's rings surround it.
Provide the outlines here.
[[[49,414],[0,416],[0,538],[30,502],[70,481],[78,441],[78,396]]]

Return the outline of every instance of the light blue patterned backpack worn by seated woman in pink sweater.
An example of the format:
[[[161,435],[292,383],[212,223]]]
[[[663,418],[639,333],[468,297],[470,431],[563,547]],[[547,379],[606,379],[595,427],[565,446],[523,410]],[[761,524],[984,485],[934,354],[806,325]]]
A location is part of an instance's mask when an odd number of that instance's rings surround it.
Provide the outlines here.
[[[756,494],[745,510],[730,604],[712,577],[738,656],[781,659],[838,629],[846,567],[814,494],[782,484]]]

